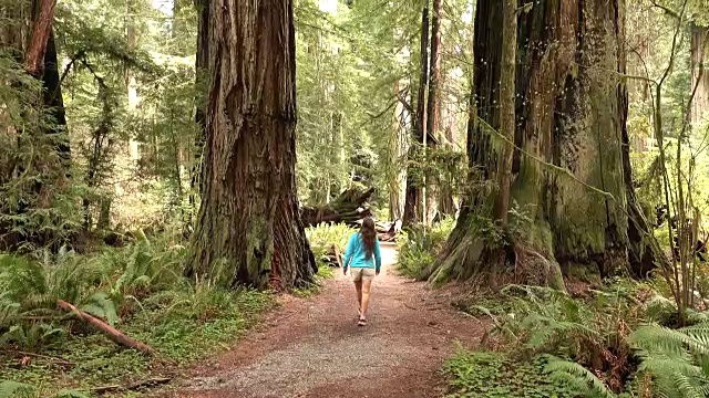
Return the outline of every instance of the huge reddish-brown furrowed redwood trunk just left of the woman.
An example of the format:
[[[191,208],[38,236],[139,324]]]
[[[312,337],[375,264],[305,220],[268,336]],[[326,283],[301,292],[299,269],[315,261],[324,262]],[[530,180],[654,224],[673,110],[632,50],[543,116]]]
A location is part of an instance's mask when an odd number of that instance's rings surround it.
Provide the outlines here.
[[[309,283],[317,266],[296,196],[292,0],[212,0],[208,45],[202,205],[187,273],[259,289]]]

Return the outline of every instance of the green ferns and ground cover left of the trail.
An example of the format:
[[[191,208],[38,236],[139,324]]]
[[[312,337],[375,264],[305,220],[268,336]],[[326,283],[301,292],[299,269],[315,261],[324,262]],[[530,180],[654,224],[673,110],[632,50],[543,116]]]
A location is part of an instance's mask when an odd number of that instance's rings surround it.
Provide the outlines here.
[[[342,247],[347,227],[308,230],[316,253]],[[278,303],[274,292],[226,290],[183,274],[188,249],[178,232],[136,233],[124,248],[0,254],[0,397],[121,396],[167,383],[179,369],[229,349]],[[322,263],[315,294],[332,275]],[[73,314],[73,304],[150,346],[126,349]]]

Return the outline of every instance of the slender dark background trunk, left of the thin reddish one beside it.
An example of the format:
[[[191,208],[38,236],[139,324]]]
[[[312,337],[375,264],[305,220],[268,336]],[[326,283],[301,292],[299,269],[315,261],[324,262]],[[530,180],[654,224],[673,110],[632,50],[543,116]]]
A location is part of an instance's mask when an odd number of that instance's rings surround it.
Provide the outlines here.
[[[417,115],[414,123],[414,137],[419,144],[423,144],[423,135],[425,129],[425,92],[429,86],[429,0],[424,0],[423,11],[421,12],[421,70],[419,77],[419,97],[417,100]],[[417,146],[412,145],[409,153],[417,150]],[[410,156],[409,158],[412,158]],[[421,209],[421,174],[417,172],[412,166],[409,166],[407,172],[407,198],[403,207],[403,224],[410,226],[423,219],[423,209]]]

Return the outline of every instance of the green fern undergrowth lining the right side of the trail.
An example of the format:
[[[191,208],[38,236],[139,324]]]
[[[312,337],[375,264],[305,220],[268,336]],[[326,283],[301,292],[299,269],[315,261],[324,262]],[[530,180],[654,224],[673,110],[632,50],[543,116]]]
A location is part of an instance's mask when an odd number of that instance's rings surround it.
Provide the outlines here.
[[[443,250],[442,223],[422,238],[400,239],[401,271],[418,277]],[[443,238],[439,238],[439,234]],[[413,241],[412,237],[415,237]],[[698,285],[707,265],[698,265]],[[510,284],[494,292],[472,283],[451,304],[493,327],[479,349],[443,368],[448,397],[705,397],[709,381],[709,312],[703,293],[687,308],[684,326],[660,275],[579,280],[569,293]]]

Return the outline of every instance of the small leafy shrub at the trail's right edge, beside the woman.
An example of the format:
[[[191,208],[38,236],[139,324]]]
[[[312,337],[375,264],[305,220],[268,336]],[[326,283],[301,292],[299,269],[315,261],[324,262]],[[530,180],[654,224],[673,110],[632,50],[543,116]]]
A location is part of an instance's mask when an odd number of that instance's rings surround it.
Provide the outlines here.
[[[446,218],[430,228],[415,226],[397,238],[398,270],[405,276],[423,279],[423,270],[431,265],[451,234],[455,220]]]

